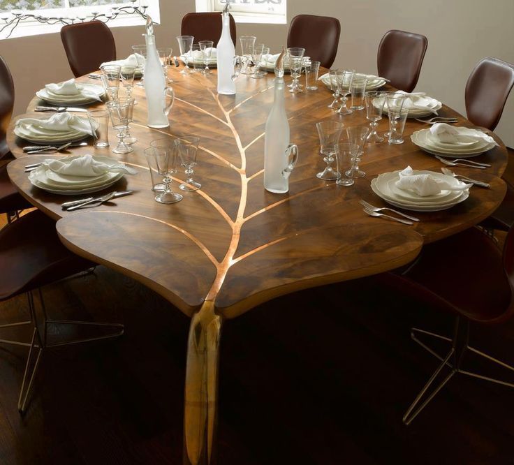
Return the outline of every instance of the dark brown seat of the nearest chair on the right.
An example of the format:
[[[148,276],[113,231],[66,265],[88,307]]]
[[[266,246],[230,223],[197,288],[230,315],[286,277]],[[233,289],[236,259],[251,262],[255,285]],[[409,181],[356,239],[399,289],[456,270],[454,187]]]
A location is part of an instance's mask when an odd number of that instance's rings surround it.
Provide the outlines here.
[[[381,281],[431,308],[480,323],[499,323],[511,302],[503,270],[499,247],[477,228],[470,228],[427,244],[406,275],[388,273]]]

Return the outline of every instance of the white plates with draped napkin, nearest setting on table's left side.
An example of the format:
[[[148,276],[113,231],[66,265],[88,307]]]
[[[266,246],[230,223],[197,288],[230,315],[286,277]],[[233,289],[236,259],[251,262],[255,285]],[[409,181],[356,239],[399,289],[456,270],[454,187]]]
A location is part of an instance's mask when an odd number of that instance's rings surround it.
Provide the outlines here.
[[[102,191],[124,175],[138,173],[115,158],[90,154],[47,158],[41,163],[26,165],[25,168],[33,186],[58,195],[82,195]]]

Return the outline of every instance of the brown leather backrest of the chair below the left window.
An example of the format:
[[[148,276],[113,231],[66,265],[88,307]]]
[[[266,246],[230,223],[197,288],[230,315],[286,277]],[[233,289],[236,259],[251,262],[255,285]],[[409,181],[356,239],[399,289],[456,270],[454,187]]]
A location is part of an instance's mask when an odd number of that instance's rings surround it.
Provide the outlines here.
[[[75,77],[96,71],[104,61],[116,59],[115,38],[101,21],[63,26],[61,40]]]

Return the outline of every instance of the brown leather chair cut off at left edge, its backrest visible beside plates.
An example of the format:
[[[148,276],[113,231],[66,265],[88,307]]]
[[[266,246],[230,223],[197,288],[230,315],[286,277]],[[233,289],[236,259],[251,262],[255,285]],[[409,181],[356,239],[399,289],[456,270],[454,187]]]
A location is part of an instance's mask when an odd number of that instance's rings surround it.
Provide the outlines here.
[[[7,175],[7,163],[12,160],[7,145],[7,128],[14,108],[14,83],[6,62],[0,57],[0,214],[7,215],[7,221],[17,216],[20,210],[32,207],[20,193]]]

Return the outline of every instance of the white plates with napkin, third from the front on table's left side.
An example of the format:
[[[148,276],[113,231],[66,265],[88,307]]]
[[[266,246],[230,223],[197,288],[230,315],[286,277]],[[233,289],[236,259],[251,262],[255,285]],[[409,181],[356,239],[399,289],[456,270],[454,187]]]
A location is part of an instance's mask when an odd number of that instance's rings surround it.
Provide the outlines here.
[[[46,84],[43,89],[36,91],[36,96],[41,98],[41,100],[52,105],[57,105],[58,107],[67,107],[68,105],[87,105],[89,103],[101,102],[104,95],[105,89],[103,89],[102,86],[89,84],[87,82],[77,83],[75,82],[75,79],[59,82],[57,84]],[[77,110],[74,109],[71,111]]]

